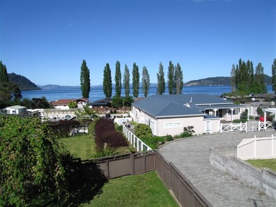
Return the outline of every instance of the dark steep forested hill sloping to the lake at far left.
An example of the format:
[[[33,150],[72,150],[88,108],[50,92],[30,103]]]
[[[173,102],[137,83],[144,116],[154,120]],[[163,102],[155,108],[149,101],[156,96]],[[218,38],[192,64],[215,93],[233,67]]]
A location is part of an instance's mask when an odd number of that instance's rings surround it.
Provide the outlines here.
[[[23,75],[17,75],[14,72],[8,73],[8,77],[10,82],[15,83],[19,86],[20,90],[41,90],[37,85],[32,83],[29,79],[26,77],[23,77]]]

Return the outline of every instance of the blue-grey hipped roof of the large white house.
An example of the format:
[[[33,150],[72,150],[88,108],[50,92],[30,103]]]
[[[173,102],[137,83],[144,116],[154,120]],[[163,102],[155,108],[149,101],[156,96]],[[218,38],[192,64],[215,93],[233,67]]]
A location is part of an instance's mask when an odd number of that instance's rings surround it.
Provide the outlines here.
[[[189,94],[153,95],[132,103],[132,105],[153,117],[186,117],[206,115],[204,108],[200,105],[230,105],[231,103],[214,95]]]

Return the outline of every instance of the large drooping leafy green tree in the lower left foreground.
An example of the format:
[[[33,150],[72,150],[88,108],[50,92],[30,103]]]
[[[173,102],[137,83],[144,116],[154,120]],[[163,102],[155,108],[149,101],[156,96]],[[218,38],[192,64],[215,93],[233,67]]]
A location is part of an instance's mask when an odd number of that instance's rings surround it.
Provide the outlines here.
[[[0,206],[27,206],[39,195],[60,196],[65,177],[61,146],[34,117],[0,118]]]

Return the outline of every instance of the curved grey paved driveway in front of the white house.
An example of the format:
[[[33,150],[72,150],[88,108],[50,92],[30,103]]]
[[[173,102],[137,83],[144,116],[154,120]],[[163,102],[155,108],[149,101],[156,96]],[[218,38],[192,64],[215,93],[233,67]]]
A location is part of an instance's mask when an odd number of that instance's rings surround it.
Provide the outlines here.
[[[172,141],[159,148],[166,161],[185,175],[213,206],[276,206],[273,197],[244,184],[210,165],[209,149],[237,146],[244,138],[276,136],[275,130],[264,132],[230,132]]]

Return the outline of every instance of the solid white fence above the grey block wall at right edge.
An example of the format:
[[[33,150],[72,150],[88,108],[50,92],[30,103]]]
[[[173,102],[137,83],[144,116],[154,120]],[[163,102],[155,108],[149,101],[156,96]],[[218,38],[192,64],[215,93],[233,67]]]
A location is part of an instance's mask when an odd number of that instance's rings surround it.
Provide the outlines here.
[[[237,157],[246,159],[276,158],[276,137],[242,139],[237,146]]]

